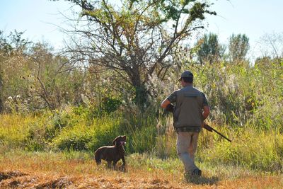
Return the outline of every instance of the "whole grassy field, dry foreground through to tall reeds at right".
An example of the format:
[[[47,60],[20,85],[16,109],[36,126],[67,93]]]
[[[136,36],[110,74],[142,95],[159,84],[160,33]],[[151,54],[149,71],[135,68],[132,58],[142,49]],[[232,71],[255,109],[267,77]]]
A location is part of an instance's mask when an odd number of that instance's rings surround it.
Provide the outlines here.
[[[201,132],[201,178],[183,180],[173,118],[158,110],[161,99],[142,111],[106,98],[102,106],[84,99],[33,112],[16,98],[0,114],[0,188],[283,188],[281,67],[204,71],[212,74],[197,76],[196,84],[212,107],[207,123],[232,142]],[[93,151],[124,134],[127,172],[96,166]]]

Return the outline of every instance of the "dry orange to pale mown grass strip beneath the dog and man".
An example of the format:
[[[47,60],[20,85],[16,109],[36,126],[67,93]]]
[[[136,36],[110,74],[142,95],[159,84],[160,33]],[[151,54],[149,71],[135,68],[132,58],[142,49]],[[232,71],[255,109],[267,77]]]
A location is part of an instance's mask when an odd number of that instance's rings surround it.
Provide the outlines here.
[[[127,172],[96,166],[91,159],[68,159],[59,153],[23,154],[0,158],[0,188],[283,188],[283,178],[232,168],[204,168],[194,183],[183,181],[182,168],[166,171],[130,162]]]

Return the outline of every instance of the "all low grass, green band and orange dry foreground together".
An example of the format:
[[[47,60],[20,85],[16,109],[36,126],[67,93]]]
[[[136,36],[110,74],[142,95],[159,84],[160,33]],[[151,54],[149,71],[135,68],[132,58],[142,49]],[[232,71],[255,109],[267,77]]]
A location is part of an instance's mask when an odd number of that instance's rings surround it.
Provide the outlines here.
[[[203,176],[187,183],[171,117],[128,116],[0,115],[0,188],[283,188],[280,127],[209,122],[232,142],[203,130],[196,154]],[[126,173],[93,161],[93,151],[117,134],[127,135]]]

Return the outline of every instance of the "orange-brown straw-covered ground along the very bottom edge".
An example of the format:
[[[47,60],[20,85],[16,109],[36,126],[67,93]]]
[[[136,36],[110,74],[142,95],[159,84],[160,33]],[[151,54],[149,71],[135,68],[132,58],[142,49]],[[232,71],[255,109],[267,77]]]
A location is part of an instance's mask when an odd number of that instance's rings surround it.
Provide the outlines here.
[[[42,162],[44,164],[44,162]],[[69,164],[73,166],[74,164]],[[279,176],[246,176],[222,179],[207,177],[187,183],[182,176],[163,171],[139,171],[129,168],[124,173],[97,168],[96,173],[58,173],[57,171],[33,171],[8,169],[0,171],[0,188],[283,188],[283,178]],[[44,166],[43,166],[44,167]]]

